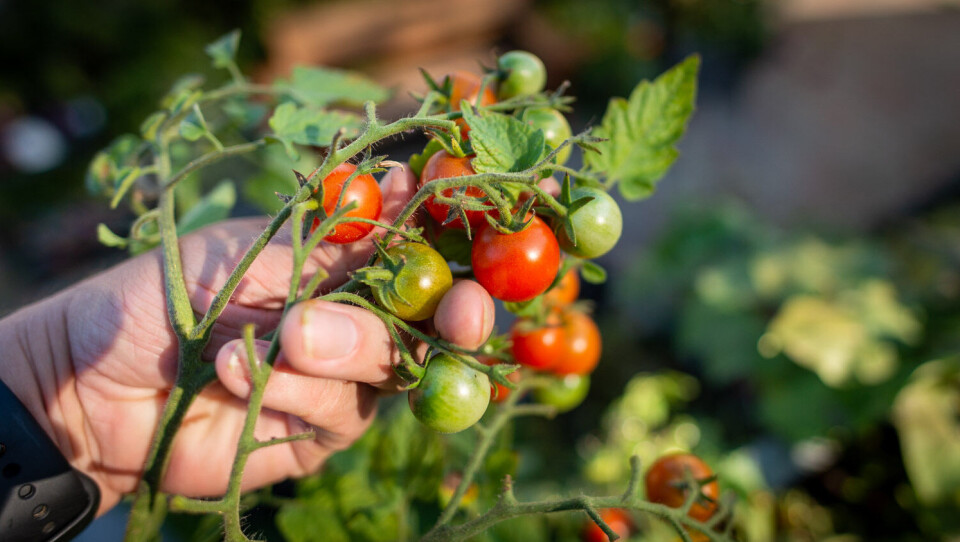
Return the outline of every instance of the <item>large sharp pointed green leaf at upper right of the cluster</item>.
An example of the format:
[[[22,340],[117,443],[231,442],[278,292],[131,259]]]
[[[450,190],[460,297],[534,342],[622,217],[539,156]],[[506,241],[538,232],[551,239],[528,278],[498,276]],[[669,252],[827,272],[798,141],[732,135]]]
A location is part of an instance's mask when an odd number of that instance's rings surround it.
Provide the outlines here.
[[[629,100],[614,98],[591,135],[604,138],[600,153],[584,154],[587,169],[619,183],[628,200],[653,194],[656,183],[677,159],[676,143],[694,110],[698,56],[688,57],[652,83],[641,81]]]

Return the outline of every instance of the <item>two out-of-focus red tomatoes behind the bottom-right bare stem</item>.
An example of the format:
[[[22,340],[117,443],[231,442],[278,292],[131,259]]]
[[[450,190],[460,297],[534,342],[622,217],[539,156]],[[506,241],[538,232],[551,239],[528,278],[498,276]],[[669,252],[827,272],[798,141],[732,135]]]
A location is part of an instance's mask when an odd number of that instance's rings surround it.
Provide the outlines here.
[[[689,471],[689,475],[688,475]],[[688,481],[688,476],[695,482],[695,487]],[[687,515],[697,521],[707,521],[717,512],[717,499],[720,496],[720,487],[717,484],[713,470],[699,457],[689,453],[675,453],[657,459],[644,477],[647,491],[647,500],[663,504],[671,508],[680,508],[692,491],[699,488],[696,499]],[[636,526],[630,514],[621,508],[607,508],[600,511],[600,518],[613,532],[621,538],[629,538]],[[709,537],[695,530],[689,530],[688,535],[694,542],[705,542]],[[585,542],[607,542],[606,533],[593,521],[589,521],[583,528]]]

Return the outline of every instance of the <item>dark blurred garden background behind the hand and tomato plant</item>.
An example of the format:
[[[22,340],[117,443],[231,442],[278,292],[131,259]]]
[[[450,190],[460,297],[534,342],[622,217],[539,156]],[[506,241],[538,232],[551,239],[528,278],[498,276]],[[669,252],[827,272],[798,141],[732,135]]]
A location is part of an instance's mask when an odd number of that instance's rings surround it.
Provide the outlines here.
[[[132,215],[86,195],[87,165],[182,74],[222,78],[203,46],[233,28],[254,79],[357,70],[394,89],[387,117],[417,68],[527,49],[572,83],[574,132],[699,53],[681,158],[585,286],[587,402],[516,431],[518,475],[620,491],[631,453],[693,449],[744,540],[960,539],[960,2],[0,0],[0,316],[125,257],[96,225]],[[234,214],[269,210],[240,192]]]

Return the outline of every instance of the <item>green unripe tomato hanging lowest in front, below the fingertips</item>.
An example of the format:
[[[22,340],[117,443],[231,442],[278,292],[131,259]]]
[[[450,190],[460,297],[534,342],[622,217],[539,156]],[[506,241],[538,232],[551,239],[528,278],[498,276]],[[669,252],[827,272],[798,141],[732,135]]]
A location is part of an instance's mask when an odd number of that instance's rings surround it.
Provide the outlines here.
[[[420,423],[457,433],[477,423],[490,404],[490,379],[446,354],[434,356],[420,385],[407,394]]]

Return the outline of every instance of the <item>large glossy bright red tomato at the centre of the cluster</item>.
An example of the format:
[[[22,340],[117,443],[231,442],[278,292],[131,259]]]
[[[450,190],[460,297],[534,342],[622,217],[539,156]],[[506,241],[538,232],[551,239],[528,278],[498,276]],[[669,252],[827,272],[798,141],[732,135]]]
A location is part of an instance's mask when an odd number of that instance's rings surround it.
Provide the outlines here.
[[[477,282],[504,301],[537,297],[550,287],[560,268],[557,238],[536,216],[524,230],[512,234],[483,224],[470,256]]]

